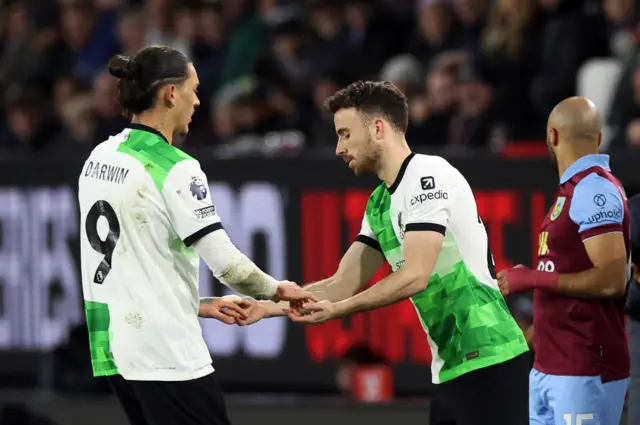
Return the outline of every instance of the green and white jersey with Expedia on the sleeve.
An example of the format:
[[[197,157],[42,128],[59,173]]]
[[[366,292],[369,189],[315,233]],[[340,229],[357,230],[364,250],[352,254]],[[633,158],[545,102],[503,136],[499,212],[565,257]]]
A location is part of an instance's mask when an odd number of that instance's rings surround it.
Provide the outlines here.
[[[411,298],[433,353],[433,383],[526,352],[469,184],[445,159],[411,154],[394,184],[371,194],[358,240],[381,249],[395,272],[406,232],[421,230],[445,235],[427,288]]]

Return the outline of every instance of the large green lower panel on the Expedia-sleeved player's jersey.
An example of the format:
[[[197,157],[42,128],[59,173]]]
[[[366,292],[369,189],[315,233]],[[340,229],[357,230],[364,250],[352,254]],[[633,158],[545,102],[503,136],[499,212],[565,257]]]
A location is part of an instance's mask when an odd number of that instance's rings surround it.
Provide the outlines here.
[[[462,261],[445,276],[432,275],[412,301],[444,361],[440,382],[528,351],[500,292],[478,281]]]

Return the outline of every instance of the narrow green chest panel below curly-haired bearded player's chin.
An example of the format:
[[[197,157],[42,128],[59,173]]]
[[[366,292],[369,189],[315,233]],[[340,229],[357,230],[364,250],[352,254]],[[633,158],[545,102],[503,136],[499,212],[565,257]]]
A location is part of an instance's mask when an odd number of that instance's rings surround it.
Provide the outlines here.
[[[400,248],[400,241],[396,237],[391,224],[391,195],[381,184],[373,191],[367,202],[367,222],[380,243],[382,252],[387,259],[389,255]]]

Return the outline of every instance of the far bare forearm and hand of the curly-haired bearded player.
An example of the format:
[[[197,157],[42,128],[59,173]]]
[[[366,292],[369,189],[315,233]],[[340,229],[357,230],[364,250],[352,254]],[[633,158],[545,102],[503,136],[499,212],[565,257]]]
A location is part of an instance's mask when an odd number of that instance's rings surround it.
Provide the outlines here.
[[[338,270],[333,276],[305,285],[304,289],[320,300],[342,301],[362,289],[383,262],[382,252],[356,241],[340,260]],[[264,301],[264,304],[267,308],[265,317],[283,316],[284,310],[289,308],[288,302]]]

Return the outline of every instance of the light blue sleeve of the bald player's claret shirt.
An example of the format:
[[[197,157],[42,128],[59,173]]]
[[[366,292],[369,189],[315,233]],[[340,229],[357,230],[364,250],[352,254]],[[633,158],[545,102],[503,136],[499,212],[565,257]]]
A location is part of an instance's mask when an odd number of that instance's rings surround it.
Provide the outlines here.
[[[622,232],[624,201],[609,180],[590,174],[573,190],[569,217],[578,225],[582,240],[611,232]]]

